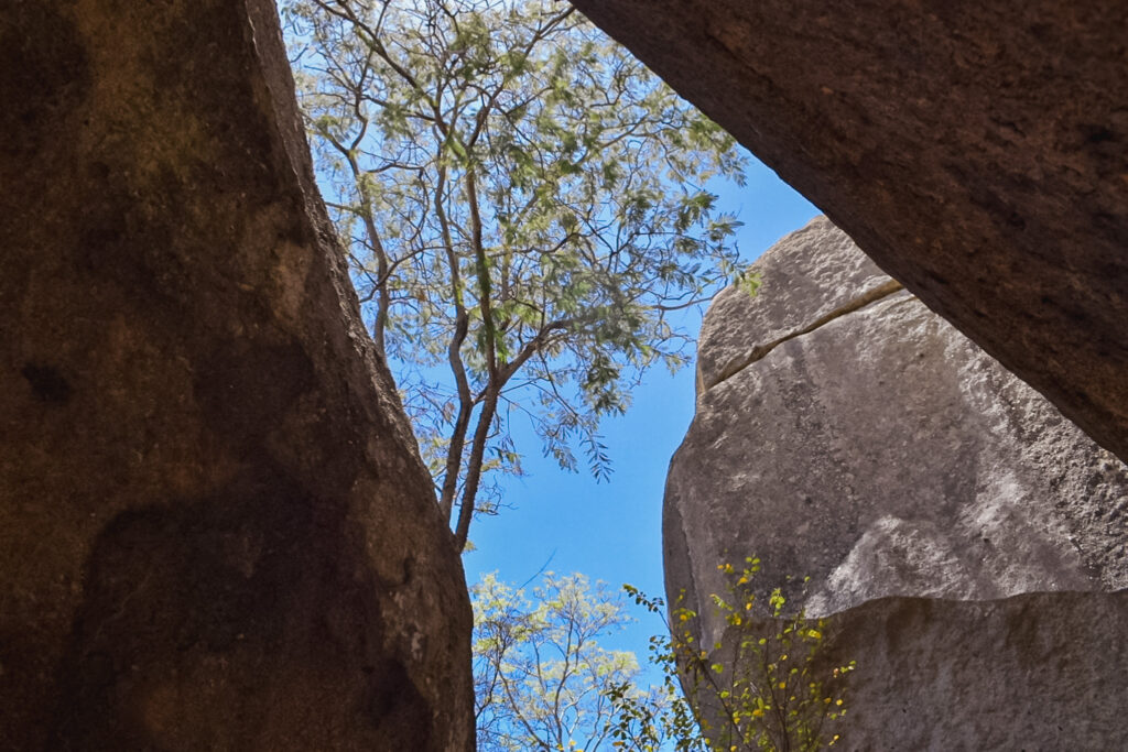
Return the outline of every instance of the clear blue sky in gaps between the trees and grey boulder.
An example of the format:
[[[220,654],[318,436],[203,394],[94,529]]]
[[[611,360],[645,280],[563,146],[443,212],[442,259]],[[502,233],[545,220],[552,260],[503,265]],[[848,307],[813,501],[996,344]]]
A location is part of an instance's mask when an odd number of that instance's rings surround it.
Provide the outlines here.
[[[735,212],[744,223],[737,242],[749,263],[819,213],[755,158],[749,159],[744,187],[712,188],[720,195],[720,209]],[[686,320],[695,334],[699,324],[696,313]],[[693,415],[693,365],[672,377],[662,368],[652,370],[626,415],[601,426],[614,474],[600,484],[589,474],[565,472],[555,460],[541,458],[531,431],[514,436],[526,476],[503,480],[504,503],[514,508],[479,517],[470,527],[476,550],[462,558],[467,583],[497,570],[501,580],[520,585],[547,563],[557,573],[581,572],[615,589],[631,583],[661,595],[662,489],[670,457]],[[513,425],[520,430],[517,421]],[[636,617],[642,616],[640,610]],[[644,661],[646,638],[660,628],[641,623],[611,644],[635,651]]]

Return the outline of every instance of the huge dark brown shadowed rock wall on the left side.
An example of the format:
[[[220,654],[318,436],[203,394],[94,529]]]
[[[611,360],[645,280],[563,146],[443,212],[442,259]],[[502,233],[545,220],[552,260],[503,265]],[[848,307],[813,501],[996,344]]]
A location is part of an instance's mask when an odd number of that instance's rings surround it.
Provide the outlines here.
[[[15,3],[0,101],[0,749],[472,749],[273,3]]]

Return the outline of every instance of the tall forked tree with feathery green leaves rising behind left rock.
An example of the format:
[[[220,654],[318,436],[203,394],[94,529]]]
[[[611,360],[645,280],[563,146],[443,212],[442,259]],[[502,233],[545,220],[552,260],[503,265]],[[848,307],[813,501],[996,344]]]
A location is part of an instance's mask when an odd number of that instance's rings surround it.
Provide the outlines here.
[[[565,2],[283,12],[323,192],[461,549],[496,508],[483,476],[520,471],[518,416],[606,476],[600,417],[686,362],[671,311],[734,275],[738,222],[705,185],[743,158]]]

